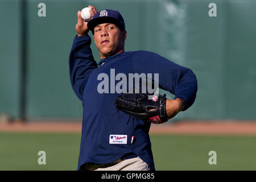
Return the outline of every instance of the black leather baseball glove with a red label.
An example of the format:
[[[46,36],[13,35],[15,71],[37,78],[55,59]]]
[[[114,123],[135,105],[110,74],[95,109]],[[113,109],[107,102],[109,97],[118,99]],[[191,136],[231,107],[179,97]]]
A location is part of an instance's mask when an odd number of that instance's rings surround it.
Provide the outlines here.
[[[166,100],[166,94],[157,97],[146,93],[125,93],[115,98],[115,105],[134,118],[159,124],[168,121]]]

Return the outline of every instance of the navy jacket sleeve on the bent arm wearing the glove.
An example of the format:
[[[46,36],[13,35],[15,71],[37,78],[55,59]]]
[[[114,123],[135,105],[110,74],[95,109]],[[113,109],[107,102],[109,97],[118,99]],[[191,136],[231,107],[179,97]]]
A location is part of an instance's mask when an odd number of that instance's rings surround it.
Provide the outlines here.
[[[195,102],[197,79],[191,69],[147,51],[138,51],[138,54],[132,56],[132,60],[134,71],[137,73],[158,73],[159,88],[183,100],[184,110]]]

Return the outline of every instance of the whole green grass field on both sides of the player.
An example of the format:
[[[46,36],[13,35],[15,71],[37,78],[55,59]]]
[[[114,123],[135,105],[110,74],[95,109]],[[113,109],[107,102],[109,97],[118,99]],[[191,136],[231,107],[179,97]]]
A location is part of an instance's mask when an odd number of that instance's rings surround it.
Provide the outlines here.
[[[0,133],[0,170],[76,170],[80,134]],[[256,136],[150,135],[156,170],[256,170]],[[46,165],[38,152],[46,151]],[[217,164],[210,165],[209,151]]]

